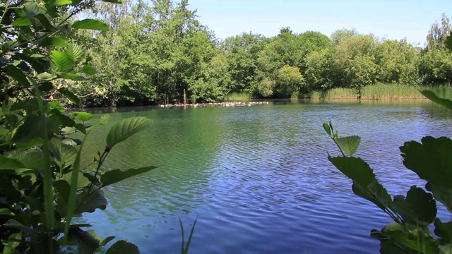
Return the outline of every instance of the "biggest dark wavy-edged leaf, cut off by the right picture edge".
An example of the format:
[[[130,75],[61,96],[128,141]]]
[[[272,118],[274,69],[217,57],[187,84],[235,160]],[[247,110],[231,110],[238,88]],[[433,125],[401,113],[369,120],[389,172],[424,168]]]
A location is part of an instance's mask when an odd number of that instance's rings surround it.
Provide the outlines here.
[[[436,188],[452,188],[452,140],[424,137],[421,142],[400,147],[405,167]]]

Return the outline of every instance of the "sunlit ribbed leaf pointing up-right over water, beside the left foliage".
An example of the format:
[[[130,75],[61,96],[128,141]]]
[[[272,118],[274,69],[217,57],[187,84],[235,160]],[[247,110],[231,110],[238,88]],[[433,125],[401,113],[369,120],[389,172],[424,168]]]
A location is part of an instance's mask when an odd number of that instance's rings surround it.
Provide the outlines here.
[[[117,122],[107,135],[107,147],[112,148],[114,145],[126,140],[131,135],[143,131],[149,124],[149,119],[145,117],[132,117]]]

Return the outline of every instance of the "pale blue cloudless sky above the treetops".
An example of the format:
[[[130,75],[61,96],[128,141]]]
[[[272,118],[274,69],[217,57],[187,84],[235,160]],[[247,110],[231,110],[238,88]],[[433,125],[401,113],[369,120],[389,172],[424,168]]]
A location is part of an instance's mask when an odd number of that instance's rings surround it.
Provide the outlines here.
[[[280,28],[330,36],[341,28],[421,45],[441,13],[451,18],[452,0],[189,0],[198,20],[218,38],[253,32],[273,37]]]

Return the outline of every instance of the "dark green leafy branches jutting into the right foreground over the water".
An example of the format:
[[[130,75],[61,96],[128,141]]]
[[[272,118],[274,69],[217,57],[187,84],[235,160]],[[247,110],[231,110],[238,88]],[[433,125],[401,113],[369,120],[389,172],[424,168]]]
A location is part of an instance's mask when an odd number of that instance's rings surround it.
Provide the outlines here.
[[[452,90],[446,90],[422,91],[422,94],[451,108],[452,101],[446,95],[452,95]],[[371,230],[371,237],[381,242],[380,253],[452,253],[452,222],[441,222],[436,217],[436,202],[441,202],[452,213],[450,138],[427,136],[420,143],[410,141],[400,147],[405,167],[427,181],[427,184],[424,188],[411,186],[406,196],[396,195],[391,198],[386,188],[376,179],[369,164],[359,157],[352,157],[360,138],[339,138],[338,133],[334,133],[331,122],[323,123],[323,128],[343,155],[328,155],[328,159],[353,181],[353,193],[373,202],[394,221],[381,230]],[[429,229],[432,224],[434,232]]]

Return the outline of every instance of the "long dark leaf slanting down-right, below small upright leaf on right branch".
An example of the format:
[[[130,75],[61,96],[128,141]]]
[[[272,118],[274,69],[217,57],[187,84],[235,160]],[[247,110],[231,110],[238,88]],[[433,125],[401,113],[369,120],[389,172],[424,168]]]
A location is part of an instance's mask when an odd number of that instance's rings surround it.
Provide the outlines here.
[[[374,202],[381,209],[391,204],[388,191],[376,180],[374,172],[364,160],[356,157],[328,157],[328,159],[345,176],[352,179],[352,189],[356,195]]]

